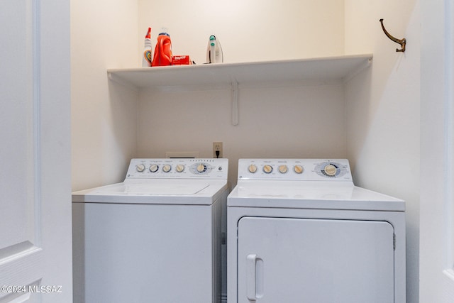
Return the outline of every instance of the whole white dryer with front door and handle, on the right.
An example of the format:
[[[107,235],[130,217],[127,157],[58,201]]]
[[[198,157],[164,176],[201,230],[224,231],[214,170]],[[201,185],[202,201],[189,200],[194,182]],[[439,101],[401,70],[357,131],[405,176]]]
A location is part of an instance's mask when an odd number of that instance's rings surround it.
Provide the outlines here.
[[[227,199],[228,303],[402,303],[405,204],[348,160],[240,159]]]

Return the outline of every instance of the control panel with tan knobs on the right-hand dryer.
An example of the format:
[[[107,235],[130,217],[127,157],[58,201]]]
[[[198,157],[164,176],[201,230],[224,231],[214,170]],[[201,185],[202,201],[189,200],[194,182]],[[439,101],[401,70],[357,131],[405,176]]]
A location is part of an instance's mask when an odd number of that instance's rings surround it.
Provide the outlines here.
[[[347,159],[240,159],[238,180],[352,181]]]

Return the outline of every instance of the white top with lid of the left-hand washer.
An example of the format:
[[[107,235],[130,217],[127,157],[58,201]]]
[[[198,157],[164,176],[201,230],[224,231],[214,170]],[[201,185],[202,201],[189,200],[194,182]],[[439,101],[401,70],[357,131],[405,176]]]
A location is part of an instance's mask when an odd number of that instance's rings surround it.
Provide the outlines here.
[[[126,180],[73,192],[72,202],[207,205],[226,189],[226,180]]]

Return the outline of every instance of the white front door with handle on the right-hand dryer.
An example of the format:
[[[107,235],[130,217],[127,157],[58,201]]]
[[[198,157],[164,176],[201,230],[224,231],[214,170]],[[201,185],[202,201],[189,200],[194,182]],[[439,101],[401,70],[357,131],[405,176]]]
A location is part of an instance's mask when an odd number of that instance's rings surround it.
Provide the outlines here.
[[[238,302],[394,302],[385,221],[243,217]]]

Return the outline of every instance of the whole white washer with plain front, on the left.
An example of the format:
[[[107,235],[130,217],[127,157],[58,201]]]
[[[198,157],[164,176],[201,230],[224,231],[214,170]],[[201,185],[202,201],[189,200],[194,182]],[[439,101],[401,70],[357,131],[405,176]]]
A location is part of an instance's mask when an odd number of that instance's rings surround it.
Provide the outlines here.
[[[220,302],[227,174],[227,159],[133,159],[124,182],[73,192],[74,302]]]

